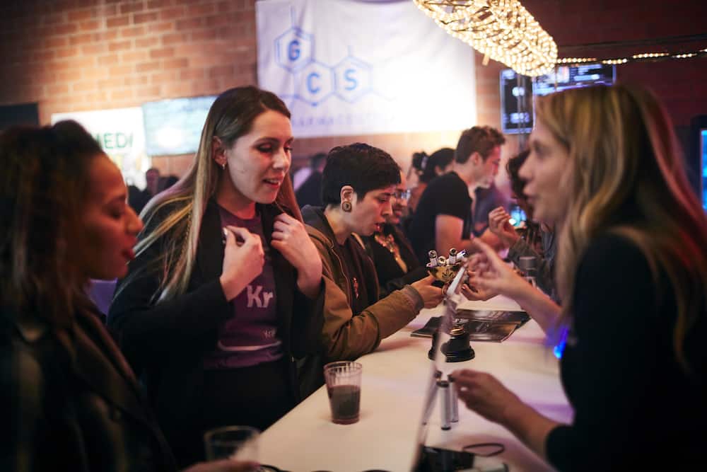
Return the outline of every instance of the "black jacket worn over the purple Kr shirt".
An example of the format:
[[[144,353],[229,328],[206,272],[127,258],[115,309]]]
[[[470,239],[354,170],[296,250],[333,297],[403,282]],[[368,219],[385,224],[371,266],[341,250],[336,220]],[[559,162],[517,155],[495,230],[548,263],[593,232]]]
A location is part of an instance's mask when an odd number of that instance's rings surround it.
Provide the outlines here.
[[[274,218],[281,210],[276,205],[258,205],[258,210],[264,234],[271,238]],[[160,212],[149,224],[159,224],[168,212],[169,208]],[[204,354],[216,346],[218,326],[233,316],[233,306],[218,280],[223,267],[222,236],[218,206],[210,200],[187,292],[158,304],[153,300],[163,275],[151,261],[164,254],[163,243],[172,237],[167,234],[130,263],[129,271],[138,276],[119,283],[108,315],[108,326],[146,386],[160,427],[182,465],[192,460],[195,448],[203,451],[198,405],[203,396]],[[298,367],[308,355],[320,351],[325,289],[317,299],[308,299],[296,289],[294,267],[277,251],[272,251],[272,257],[278,333],[290,360],[292,396],[300,398],[302,370]]]

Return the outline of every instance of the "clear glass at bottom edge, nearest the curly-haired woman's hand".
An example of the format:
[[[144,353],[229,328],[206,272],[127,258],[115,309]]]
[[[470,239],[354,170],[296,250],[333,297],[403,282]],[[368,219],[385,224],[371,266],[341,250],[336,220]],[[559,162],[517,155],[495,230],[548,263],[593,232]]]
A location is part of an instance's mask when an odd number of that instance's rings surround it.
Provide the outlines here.
[[[260,432],[250,426],[224,426],[204,433],[206,460],[258,461]]]

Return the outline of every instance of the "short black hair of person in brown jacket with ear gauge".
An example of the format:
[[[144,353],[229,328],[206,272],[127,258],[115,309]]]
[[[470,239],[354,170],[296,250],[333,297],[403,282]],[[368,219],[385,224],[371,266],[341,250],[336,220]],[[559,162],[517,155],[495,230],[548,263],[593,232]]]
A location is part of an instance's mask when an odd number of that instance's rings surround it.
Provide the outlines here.
[[[387,152],[363,143],[337,146],[322,172],[322,202],[341,203],[341,187],[351,185],[362,200],[377,188],[400,183],[400,168]]]

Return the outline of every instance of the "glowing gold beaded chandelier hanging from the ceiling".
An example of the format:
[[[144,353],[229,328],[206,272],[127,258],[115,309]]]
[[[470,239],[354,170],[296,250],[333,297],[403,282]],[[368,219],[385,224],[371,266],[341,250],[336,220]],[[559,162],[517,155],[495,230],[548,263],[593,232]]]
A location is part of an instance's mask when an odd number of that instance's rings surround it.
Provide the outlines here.
[[[552,71],[557,45],[518,0],[413,0],[455,38],[525,76]]]

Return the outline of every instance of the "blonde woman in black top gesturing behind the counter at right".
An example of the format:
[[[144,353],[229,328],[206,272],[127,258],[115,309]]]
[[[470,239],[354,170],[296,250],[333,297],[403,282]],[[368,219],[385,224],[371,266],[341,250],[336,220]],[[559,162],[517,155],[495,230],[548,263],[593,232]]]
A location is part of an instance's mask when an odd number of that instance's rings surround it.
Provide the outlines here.
[[[470,283],[566,332],[561,378],[575,416],[561,425],[469,370],[455,373],[460,397],[560,470],[703,461],[707,217],[670,119],[631,86],[563,91],[538,98],[535,112],[520,176],[536,216],[559,229],[562,309],[488,248]]]

